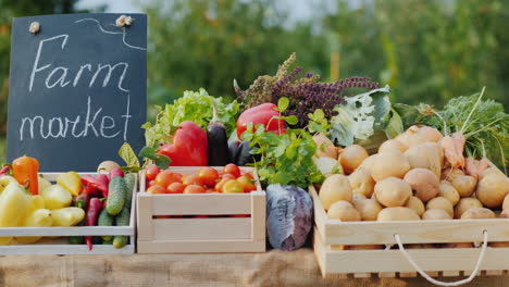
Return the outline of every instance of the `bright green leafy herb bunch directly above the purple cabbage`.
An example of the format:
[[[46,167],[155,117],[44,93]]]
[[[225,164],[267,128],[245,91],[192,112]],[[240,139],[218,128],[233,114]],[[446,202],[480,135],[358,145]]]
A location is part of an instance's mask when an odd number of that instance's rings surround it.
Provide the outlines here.
[[[282,98],[284,99],[284,98]],[[285,108],[285,100],[280,100],[280,108]],[[280,109],[280,111],[282,111]],[[283,110],[284,111],[284,110]],[[330,128],[323,111],[315,110],[309,114],[309,130],[320,132]],[[291,117],[283,117],[285,121]],[[290,120],[293,121],[293,120]],[[252,125],[243,134],[243,140],[249,140],[252,154],[260,154],[254,162],[260,180],[265,184],[295,185],[307,188],[310,184],[322,183],[324,176],[312,161],[316,144],[307,128],[288,128],[285,134],[276,135]]]

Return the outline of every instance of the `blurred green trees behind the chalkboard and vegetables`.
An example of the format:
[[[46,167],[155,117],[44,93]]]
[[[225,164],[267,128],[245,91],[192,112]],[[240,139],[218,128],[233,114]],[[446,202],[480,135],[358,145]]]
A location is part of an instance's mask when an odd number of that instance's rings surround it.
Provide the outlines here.
[[[13,16],[124,12],[91,0],[0,0],[0,162],[4,157]],[[440,107],[486,86],[509,97],[509,1],[505,0],[137,0],[149,17],[149,107],[186,89],[234,98],[291,52],[324,80],[368,76],[393,100]],[[121,3],[122,3],[121,2]],[[120,8],[119,8],[120,7]],[[120,9],[117,11],[116,9]],[[295,15],[306,12],[306,16]],[[297,13],[299,14],[299,13]],[[302,14],[302,13],[300,13]],[[153,109],[149,115],[153,116]]]

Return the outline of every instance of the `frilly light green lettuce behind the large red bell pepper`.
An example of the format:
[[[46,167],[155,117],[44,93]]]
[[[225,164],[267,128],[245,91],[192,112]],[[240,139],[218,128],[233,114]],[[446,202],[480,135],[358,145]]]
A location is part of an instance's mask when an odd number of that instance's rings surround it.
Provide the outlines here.
[[[145,128],[146,145],[156,147],[159,142],[171,142],[171,135],[185,121],[191,121],[201,128],[207,128],[213,117],[213,102],[226,132],[232,133],[237,122],[238,103],[236,101],[224,103],[222,98],[209,96],[201,88],[198,92],[185,91],[182,98],[175,100],[173,104],[166,104],[164,109],[156,107],[159,111],[156,124],[147,122],[141,126]]]

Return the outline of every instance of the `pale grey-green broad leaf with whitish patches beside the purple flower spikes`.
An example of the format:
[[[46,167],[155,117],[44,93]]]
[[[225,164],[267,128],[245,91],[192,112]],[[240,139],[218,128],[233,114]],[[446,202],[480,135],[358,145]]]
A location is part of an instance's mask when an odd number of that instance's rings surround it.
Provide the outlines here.
[[[388,86],[345,98],[346,104],[334,108],[337,115],[331,118],[331,139],[340,146],[349,146],[356,139],[368,139],[375,129],[385,128],[390,112]]]

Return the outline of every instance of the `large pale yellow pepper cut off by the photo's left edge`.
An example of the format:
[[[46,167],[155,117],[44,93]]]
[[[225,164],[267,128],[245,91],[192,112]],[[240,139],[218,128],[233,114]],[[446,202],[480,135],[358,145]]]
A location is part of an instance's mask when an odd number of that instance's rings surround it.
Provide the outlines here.
[[[17,183],[9,184],[0,195],[0,227],[20,226],[32,203],[32,196]],[[0,245],[8,245],[12,237],[1,237]]]

